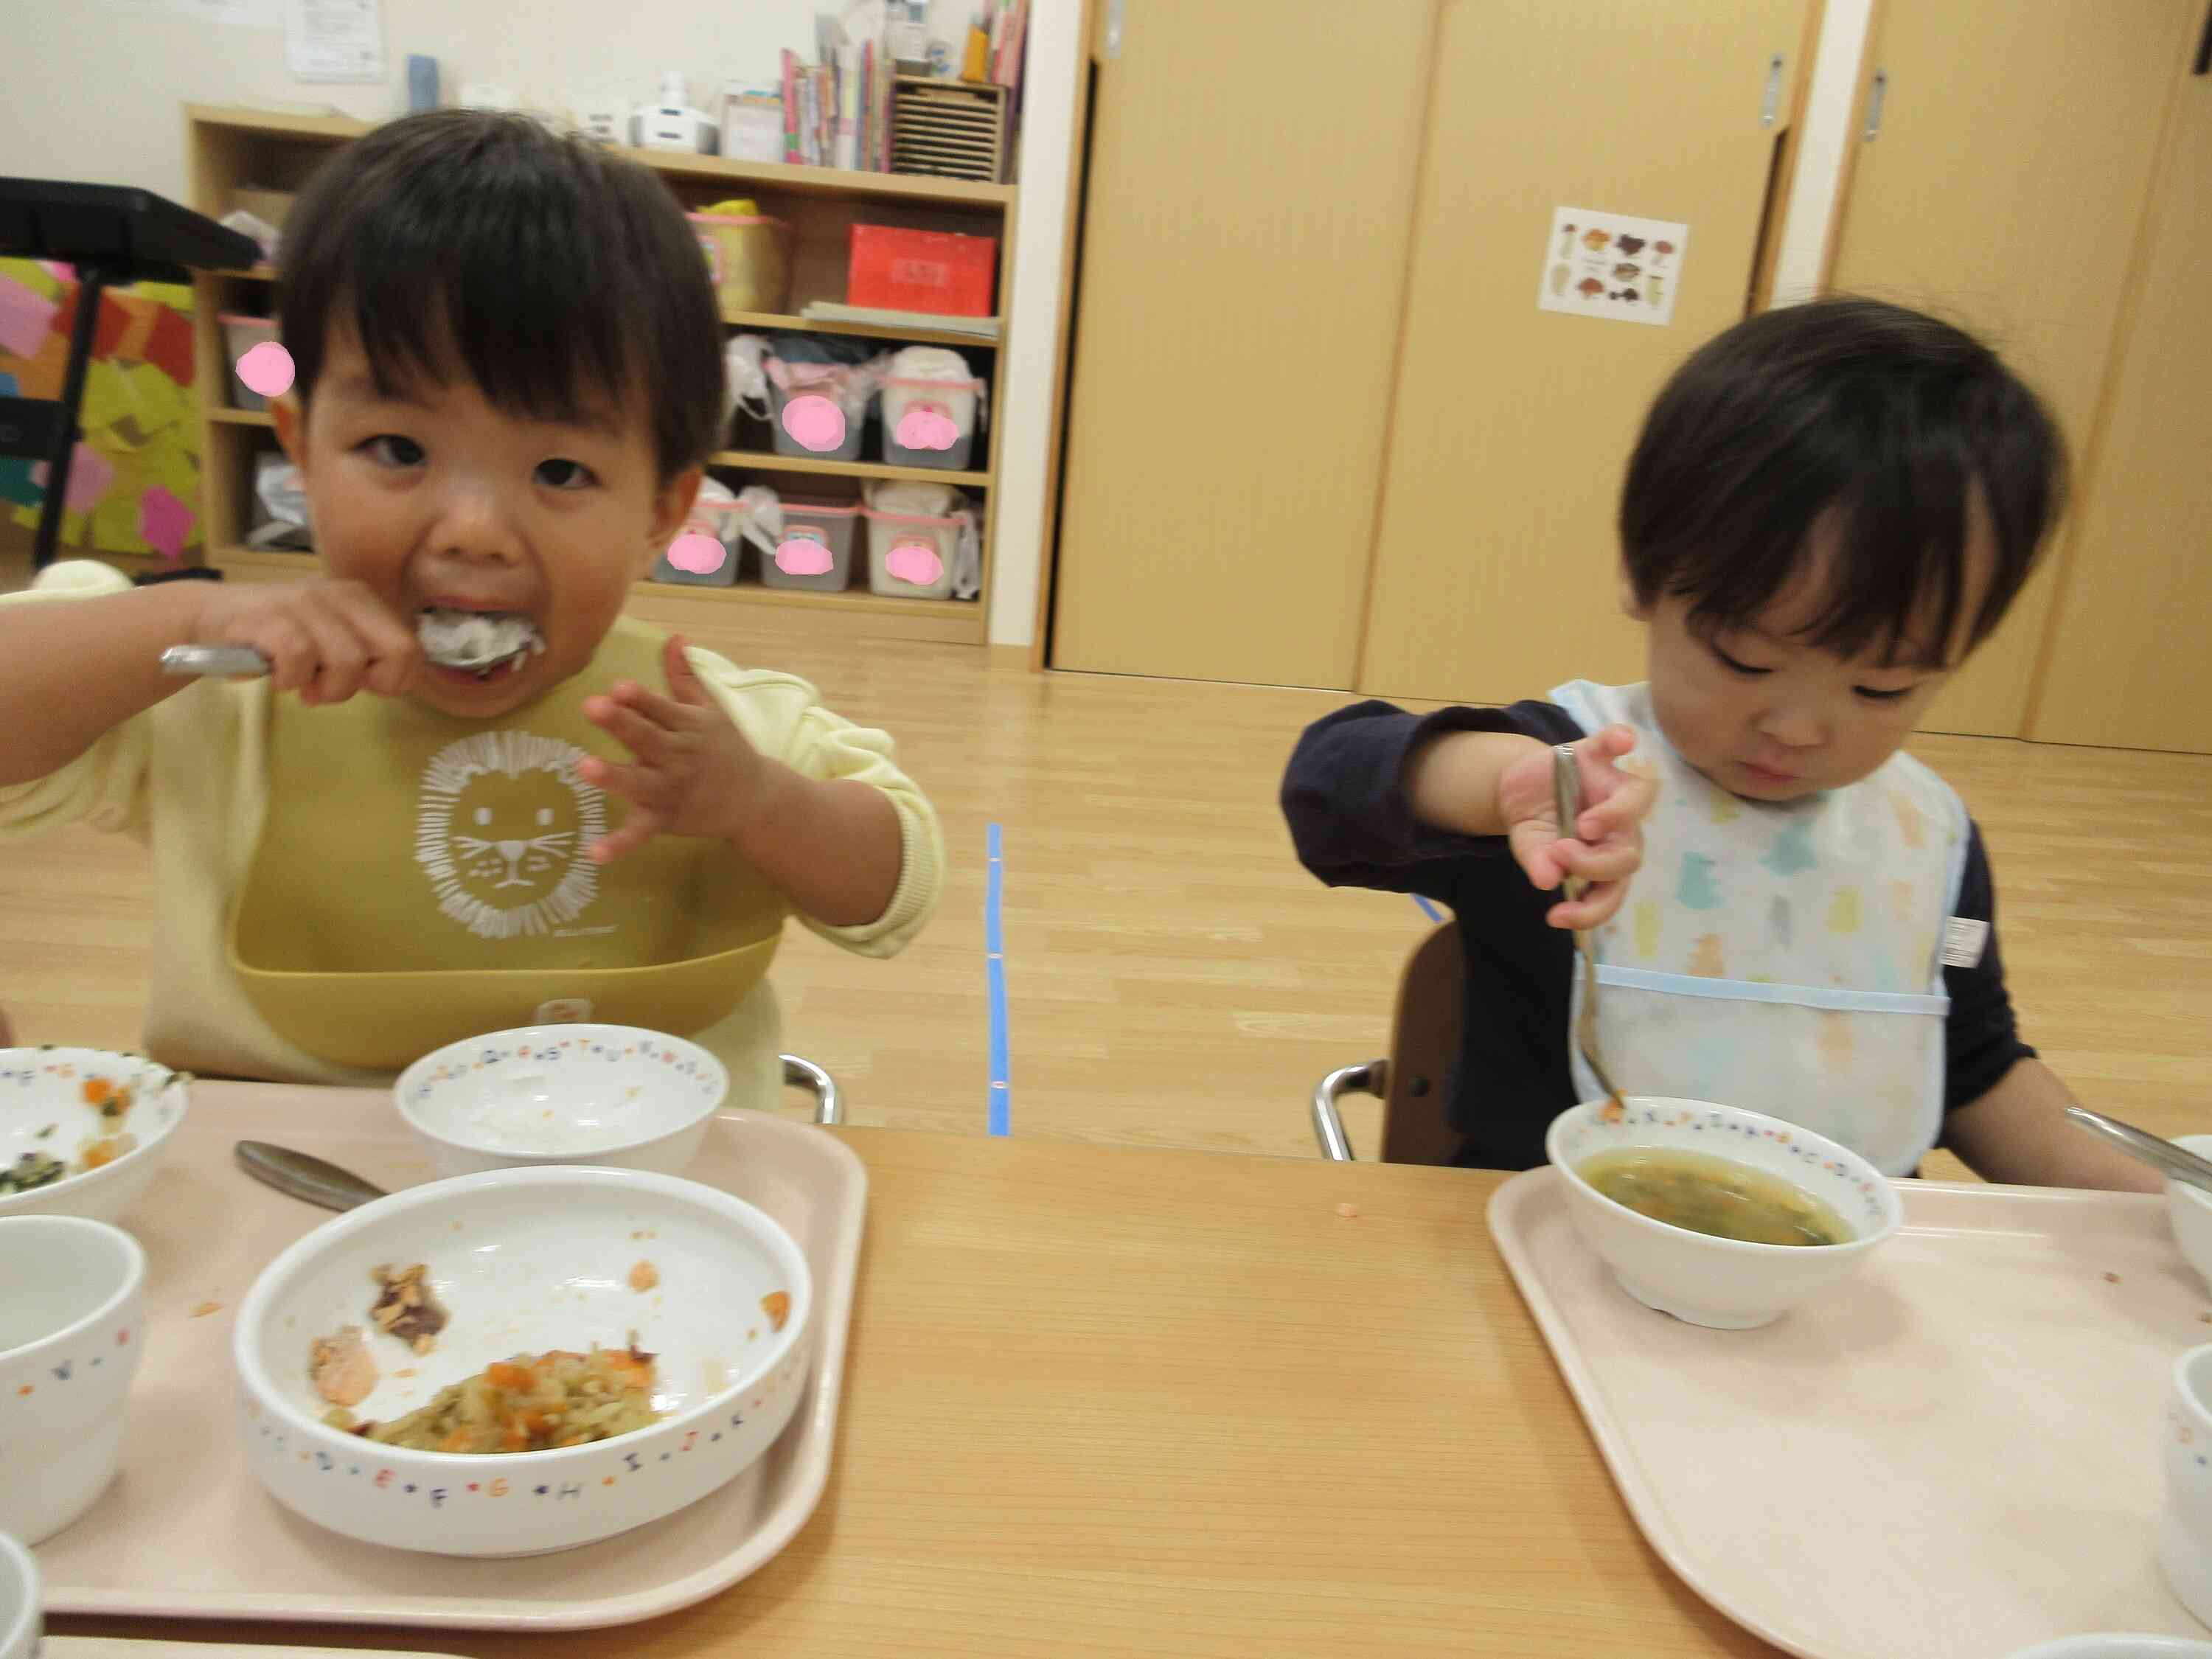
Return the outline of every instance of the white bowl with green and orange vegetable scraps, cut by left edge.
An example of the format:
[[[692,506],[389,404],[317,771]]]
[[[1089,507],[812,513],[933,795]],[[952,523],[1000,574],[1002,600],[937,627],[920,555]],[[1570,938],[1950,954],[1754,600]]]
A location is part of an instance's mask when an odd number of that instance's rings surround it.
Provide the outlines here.
[[[117,1117],[95,1104],[128,1099]],[[168,1137],[184,1121],[190,1088],[181,1073],[139,1055],[106,1048],[0,1048],[0,1166],[44,1152],[75,1168],[86,1141],[126,1133],[137,1146],[97,1170],[64,1175],[51,1186],[0,1197],[7,1214],[75,1214],[115,1221],[153,1181],[168,1157]]]

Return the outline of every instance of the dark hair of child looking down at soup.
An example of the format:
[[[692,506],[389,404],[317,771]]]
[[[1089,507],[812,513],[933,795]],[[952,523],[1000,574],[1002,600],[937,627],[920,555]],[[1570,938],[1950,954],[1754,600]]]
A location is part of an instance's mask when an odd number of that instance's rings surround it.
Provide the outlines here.
[[[1644,420],[1621,489],[1621,555],[1641,604],[1690,626],[1754,622],[1834,515],[1825,597],[1805,637],[1858,655],[1971,650],[2004,617],[2066,493],[2042,400],[1949,323],[1871,299],[1752,316],[1683,363]],[[1969,606],[1969,502],[1995,544]]]

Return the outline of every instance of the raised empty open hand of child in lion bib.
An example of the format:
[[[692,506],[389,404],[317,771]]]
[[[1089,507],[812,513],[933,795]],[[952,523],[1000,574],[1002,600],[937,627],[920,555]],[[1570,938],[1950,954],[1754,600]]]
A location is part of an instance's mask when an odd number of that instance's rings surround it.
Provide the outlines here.
[[[591,856],[611,865],[653,836],[737,841],[761,810],[770,761],[737,730],[684,659],[684,639],[668,641],[668,697],[624,679],[584,703],[584,719],[635,754],[633,765],[586,757],[577,776],[630,803],[615,834]]]

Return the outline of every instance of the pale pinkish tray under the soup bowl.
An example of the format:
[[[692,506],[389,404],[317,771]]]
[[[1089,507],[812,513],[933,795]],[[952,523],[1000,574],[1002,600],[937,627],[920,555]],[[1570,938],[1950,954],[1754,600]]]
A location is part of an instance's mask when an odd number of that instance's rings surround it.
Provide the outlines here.
[[[1630,1301],[1555,1170],[1489,1221],[1644,1537],[1752,1635],[1805,1659],[2203,1639],[2154,1559],[2168,1369],[2212,1340],[2163,1203],[1902,1190],[1858,1279],[1756,1332]]]

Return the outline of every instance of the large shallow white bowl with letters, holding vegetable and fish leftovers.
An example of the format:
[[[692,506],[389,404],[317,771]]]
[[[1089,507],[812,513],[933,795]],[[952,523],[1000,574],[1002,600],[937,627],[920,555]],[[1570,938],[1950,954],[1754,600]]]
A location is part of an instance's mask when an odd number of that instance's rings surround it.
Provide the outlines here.
[[[635,1263],[657,1285],[633,1290]],[[659,1422],[560,1451],[405,1451],[327,1427],[314,1338],[369,1327],[374,1270],[425,1263],[451,1321],[427,1356],[372,1338],[380,1383],[356,1409],[392,1420],[489,1363],[544,1349],[659,1356]],[[763,1312],[790,1296],[781,1329]],[[347,1537],[436,1555],[540,1555],[670,1515],[783,1433],[814,1356],[807,1261],[728,1192],[668,1175],[526,1168],[396,1192],[330,1221],[268,1265],[232,1343],[254,1475]],[[414,1371],[414,1376],[398,1376]]]

